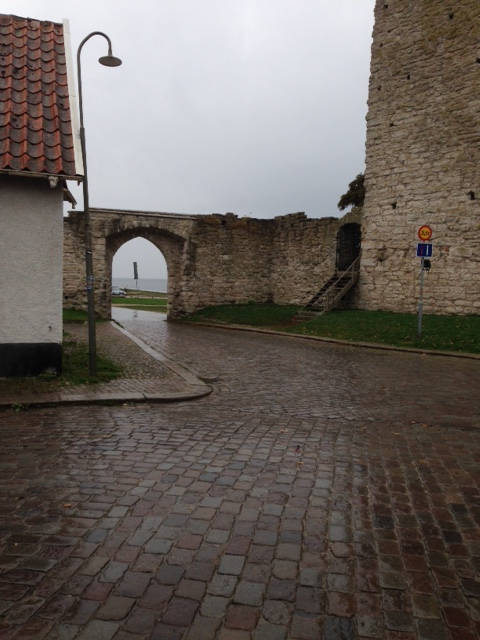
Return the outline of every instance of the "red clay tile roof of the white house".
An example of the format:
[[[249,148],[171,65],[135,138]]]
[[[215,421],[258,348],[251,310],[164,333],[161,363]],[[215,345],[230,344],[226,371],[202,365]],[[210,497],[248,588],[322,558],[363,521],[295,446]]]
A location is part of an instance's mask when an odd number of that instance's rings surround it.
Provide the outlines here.
[[[63,25],[0,14],[0,172],[77,177]]]

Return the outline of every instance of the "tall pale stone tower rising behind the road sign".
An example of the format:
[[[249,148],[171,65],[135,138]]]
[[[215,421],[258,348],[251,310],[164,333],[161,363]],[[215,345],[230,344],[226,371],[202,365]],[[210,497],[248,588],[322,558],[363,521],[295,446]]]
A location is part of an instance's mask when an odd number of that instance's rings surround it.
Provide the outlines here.
[[[480,313],[480,2],[377,0],[357,306]]]

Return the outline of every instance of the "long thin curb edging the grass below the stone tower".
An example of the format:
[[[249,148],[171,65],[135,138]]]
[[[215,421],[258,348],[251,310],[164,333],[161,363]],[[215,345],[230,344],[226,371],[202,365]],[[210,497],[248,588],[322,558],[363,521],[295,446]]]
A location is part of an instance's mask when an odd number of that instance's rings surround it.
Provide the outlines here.
[[[316,340],[317,342],[328,342],[331,344],[340,344],[347,347],[360,347],[362,349],[378,349],[381,351],[397,351],[399,353],[416,353],[423,356],[443,356],[444,358],[464,358],[467,360],[480,360],[480,354],[462,353],[460,351],[433,351],[432,349],[416,349],[414,347],[395,347],[389,344],[381,344],[377,342],[353,342],[351,340],[338,340],[337,338],[326,338],[323,336],[310,336],[304,333],[287,333],[284,331],[275,331],[274,329],[262,329],[260,327],[252,327],[243,324],[222,324],[216,322],[194,322],[191,320],[177,320],[183,324],[198,327],[210,327],[212,329],[228,329],[235,331],[250,331],[252,333],[264,333],[272,336],[282,336],[284,338],[302,338],[303,340]]]

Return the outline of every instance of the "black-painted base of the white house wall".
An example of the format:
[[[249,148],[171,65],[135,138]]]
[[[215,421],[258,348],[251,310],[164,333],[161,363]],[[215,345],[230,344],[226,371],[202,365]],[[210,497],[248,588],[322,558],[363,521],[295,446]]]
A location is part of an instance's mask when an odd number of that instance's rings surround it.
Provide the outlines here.
[[[62,372],[62,345],[56,343],[0,344],[0,377],[36,376],[53,369]]]

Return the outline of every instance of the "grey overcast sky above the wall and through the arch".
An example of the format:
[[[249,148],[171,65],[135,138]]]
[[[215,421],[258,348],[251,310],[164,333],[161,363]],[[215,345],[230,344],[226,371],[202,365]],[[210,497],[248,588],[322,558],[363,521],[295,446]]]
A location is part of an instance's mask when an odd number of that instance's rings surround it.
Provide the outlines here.
[[[374,0],[15,0],[94,30],[82,52],[90,204],[270,218],[336,204],[363,171]],[[72,191],[82,206],[81,190]],[[114,274],[159,274],[146,241]],[[151,246],[151,245],[150,245]],[[153,248],[153,247],[152,247]]]

